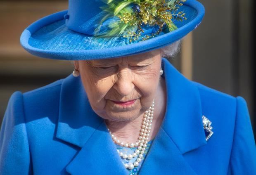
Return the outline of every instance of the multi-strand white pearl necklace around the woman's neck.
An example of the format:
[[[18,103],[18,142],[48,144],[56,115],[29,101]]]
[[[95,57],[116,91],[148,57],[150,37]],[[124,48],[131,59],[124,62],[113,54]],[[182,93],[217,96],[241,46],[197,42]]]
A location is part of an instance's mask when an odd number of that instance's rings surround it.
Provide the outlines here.
[[[125,168],[129,168],[130,170],[132,170],[135,166],[139,166],[139,163],[142,161],[143,159],[143,154],[144,151],[147,147],[147,142],[149,140],[149,134],[151,132],[151,126],[152,126],[152,120],[153,120],[153,115],[154,115],[154,100],[152,103],[152,106],[149,107],[149,109],[147,111],[145,111],[144,117],[143,117],[143,121],[142,121],[142,125],[141,125],[141,129],[140,129],[140,136],[138,138],[138,140],[135,143],[125,143],[125,142],[121,142],[120,140],[118,140],[116,138],[116,136],[114,136],[111,131],[109,130],[109,133],[111,134],[111,137],[113,139],[113,141],[116,144],[121,145],[122,147],[137,147],[137,149],[134,151],[133,154],[124,154],[123,152],[117,150],[117,152],[119,153],[119,156],[121,156],[123,159],[128,159],[131,160],[132,158],[137,156],[137,159],[135,162],[133,163],[124,163]]]

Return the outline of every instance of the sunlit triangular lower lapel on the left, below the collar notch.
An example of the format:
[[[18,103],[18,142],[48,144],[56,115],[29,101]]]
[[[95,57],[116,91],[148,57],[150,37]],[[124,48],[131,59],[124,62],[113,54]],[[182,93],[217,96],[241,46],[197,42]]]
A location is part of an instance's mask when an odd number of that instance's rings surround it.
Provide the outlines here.
[[[127,173],[104,122],[92,133],[66,170],[72,175]]]

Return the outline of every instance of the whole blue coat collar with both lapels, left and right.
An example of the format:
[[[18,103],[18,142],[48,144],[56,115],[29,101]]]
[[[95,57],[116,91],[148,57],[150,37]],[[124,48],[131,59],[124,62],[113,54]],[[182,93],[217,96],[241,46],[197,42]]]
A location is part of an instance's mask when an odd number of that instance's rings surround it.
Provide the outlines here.
[[[182,155],[206,144],[199,91],[164,58],[162,67],[167,87],[166,114],[140,174],[148,174],[148,170],[159,174],[163,165],[157,161],[167,161],[164,170],[169,173],[183,170],[184,174],[195,174]],[[127,173],[104,120],[90,107],[80,76],[70,75],[62,82],[56,137],[81,147],[66,167],[69,173]]]

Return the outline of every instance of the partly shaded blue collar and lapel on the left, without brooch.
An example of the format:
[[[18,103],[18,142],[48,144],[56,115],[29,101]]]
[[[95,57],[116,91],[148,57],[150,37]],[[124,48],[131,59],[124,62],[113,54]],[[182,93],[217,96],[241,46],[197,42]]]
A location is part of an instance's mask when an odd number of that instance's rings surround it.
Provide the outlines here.
[[[90,107],[80,77],[62,83],[56,137],[81,148],[66,166],[72,175],[126,174],[105,122]]]

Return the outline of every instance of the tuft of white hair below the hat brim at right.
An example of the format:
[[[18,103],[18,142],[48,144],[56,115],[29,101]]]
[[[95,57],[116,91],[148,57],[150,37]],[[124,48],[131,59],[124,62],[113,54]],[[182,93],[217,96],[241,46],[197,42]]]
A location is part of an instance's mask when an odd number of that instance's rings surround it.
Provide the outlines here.
[[[171,43],[170,45],[160,48],[159,50],[161,51],[162,57],[174,57],[178,52],[180,52],[180,44],[181,41],[178,40],[174,43]]]

